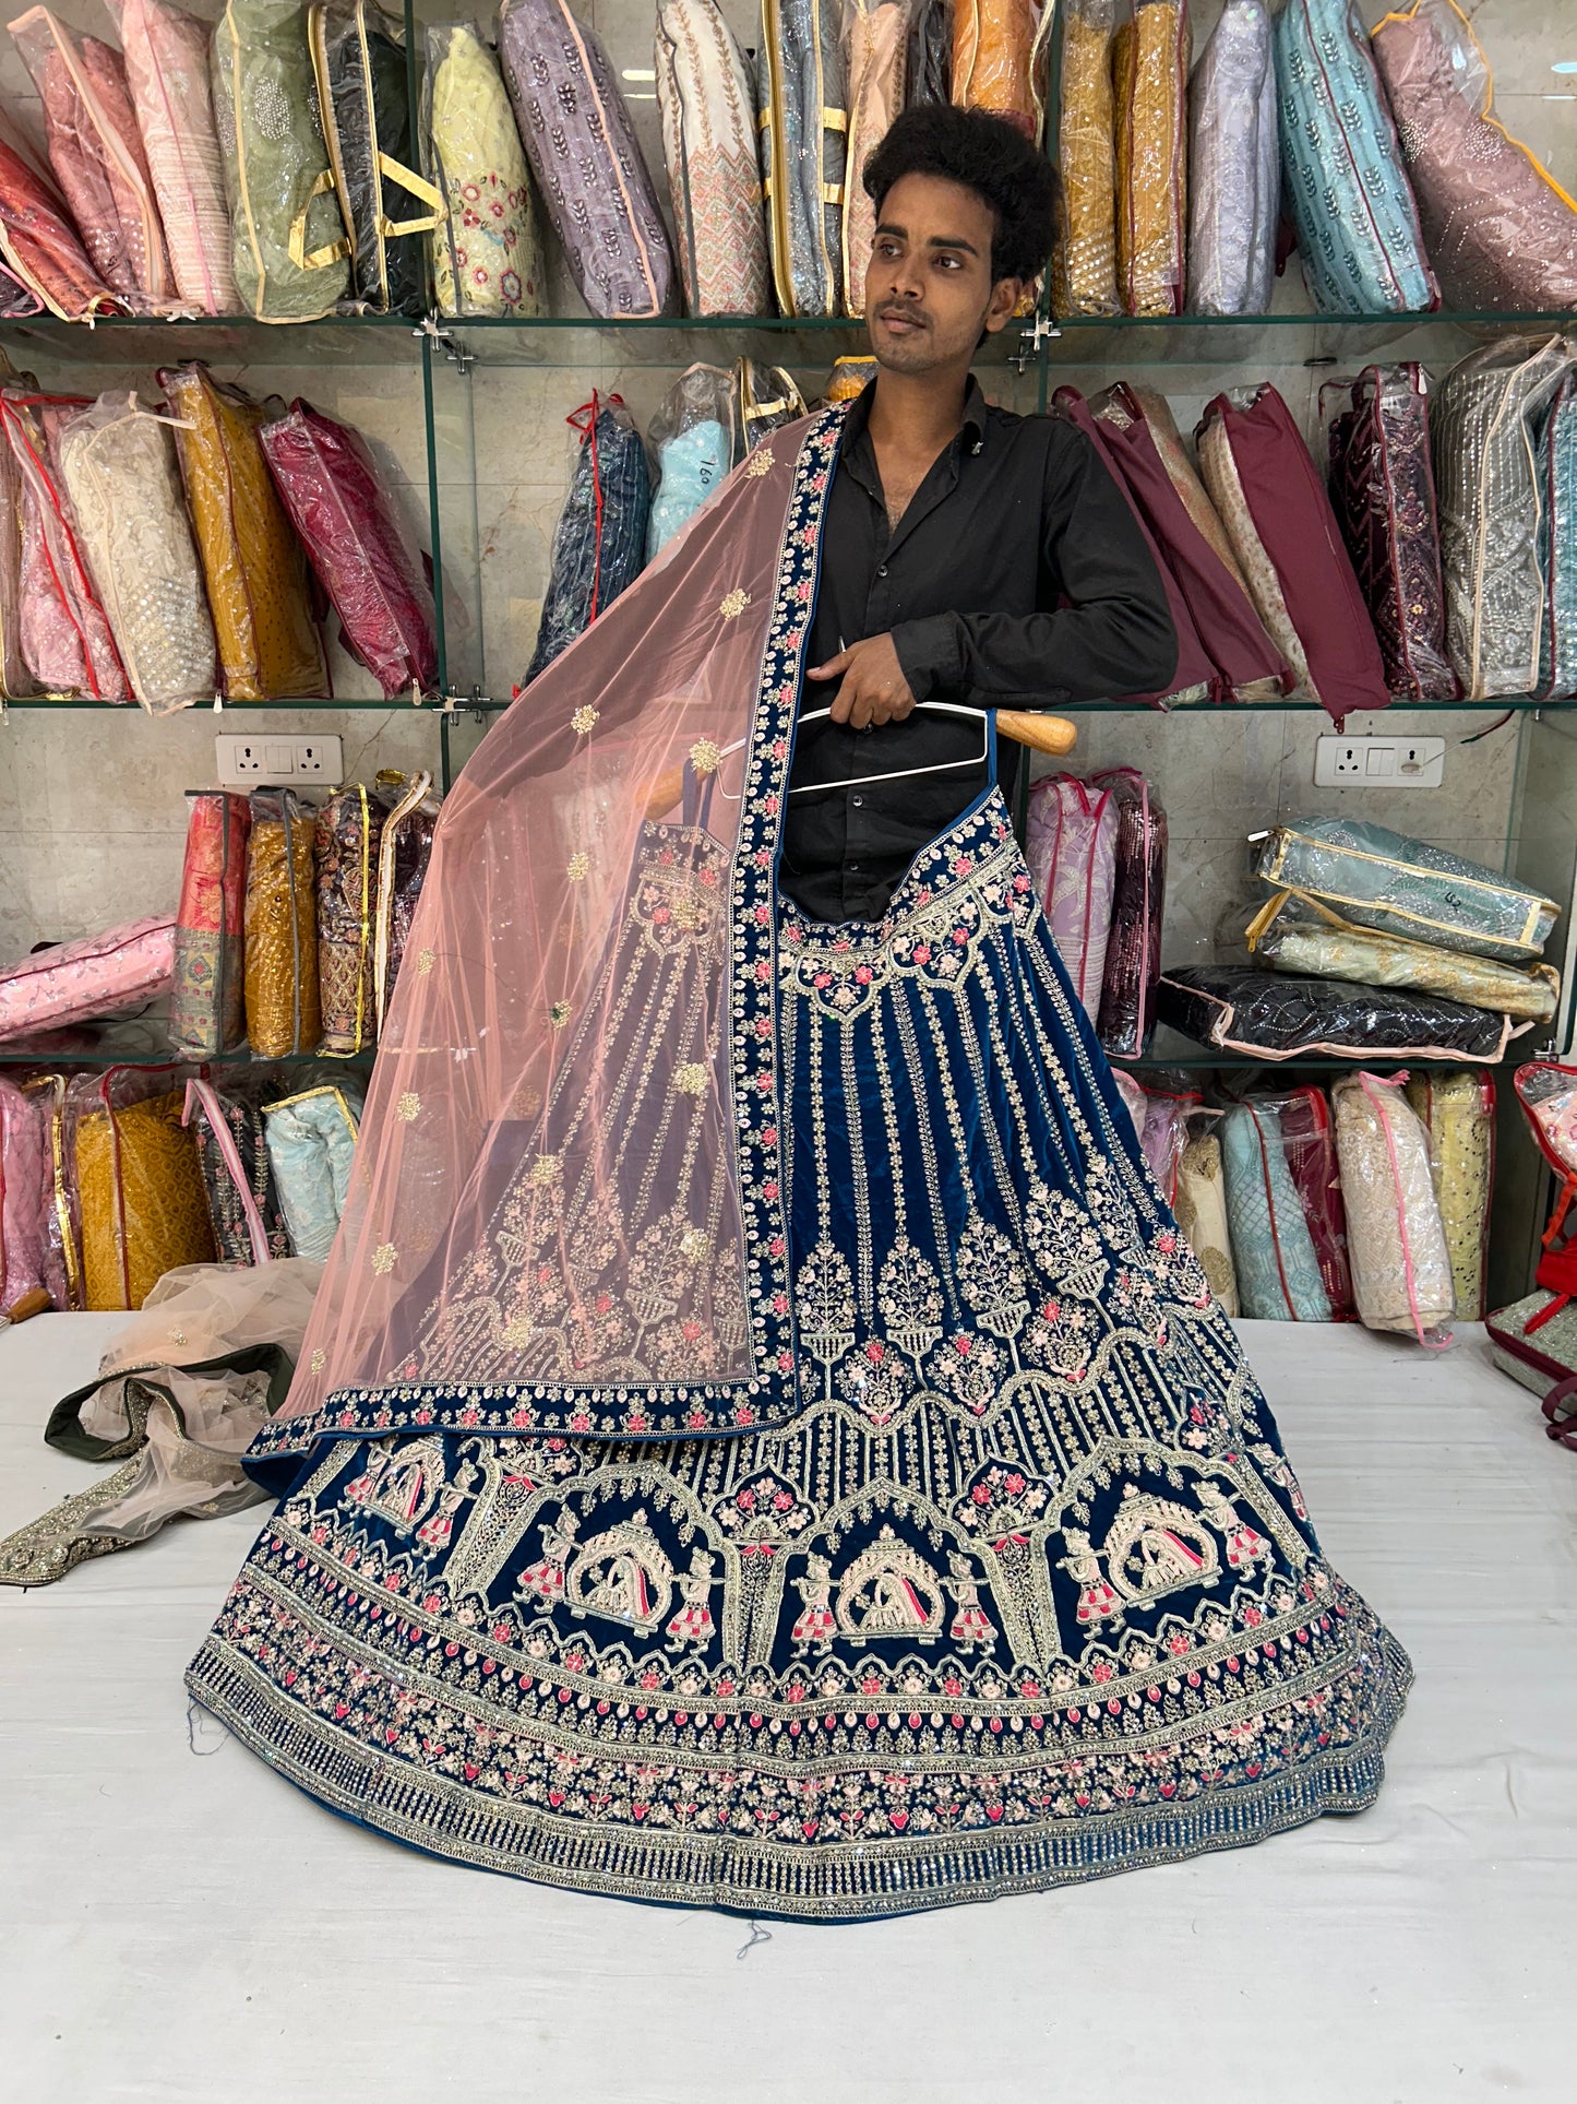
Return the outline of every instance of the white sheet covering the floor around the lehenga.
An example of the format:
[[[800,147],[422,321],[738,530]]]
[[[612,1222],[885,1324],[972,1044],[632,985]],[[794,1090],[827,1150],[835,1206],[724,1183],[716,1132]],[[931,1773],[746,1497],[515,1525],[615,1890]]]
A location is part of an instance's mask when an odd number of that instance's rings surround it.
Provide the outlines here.
[[[0,1334],[0,1534],[118,1315]],[[0,1599],[0,2064],[34,2104],[1569,2098],[1577,1454],[1480,1330],[1241,1323],[1337,1570],[1413,1654],[1379,1805],[862,1927],[458,1870],[280,1782],[181,1673],[259,1511]],[[193,1751],[208,1755],[193,1761]]]

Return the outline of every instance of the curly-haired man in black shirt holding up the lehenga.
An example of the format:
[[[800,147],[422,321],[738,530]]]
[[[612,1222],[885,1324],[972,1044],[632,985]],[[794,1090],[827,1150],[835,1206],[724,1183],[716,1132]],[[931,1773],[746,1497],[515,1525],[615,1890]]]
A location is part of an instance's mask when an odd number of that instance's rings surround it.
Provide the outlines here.
[[[923,105],[864,183],[881,372],[843,427],[801,701],[833,715],[801,730],[793,789],[828,793],[793,795],[784,827],[784,890],[818,922],[881,919],[984,789],[980,724],[919,703],[1144,694],[1177,663],[1154,562],[1089,440],[988,408],[969,372],[1051,248],[1049,164],[1001,118]],[[1018,747],[1001,760],[1011,793]],[[837,787],[879,772],[904,778]]]

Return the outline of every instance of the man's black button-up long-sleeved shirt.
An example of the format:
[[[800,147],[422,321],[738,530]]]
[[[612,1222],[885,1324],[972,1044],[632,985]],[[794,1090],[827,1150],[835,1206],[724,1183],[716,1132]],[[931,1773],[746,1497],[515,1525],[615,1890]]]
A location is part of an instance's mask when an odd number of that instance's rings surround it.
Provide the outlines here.
[[[892,631],[915,701],[1053,709],[1150,694],[1177,663],[1154,558],[1095,448],[1060,417],[988,408],[969,381],[963,425],[896,530],[887,526],[868,417],[849,408],[826,501],[822,576],[807,665]],[[805,682],[801,713],[837,682]],[[791,789],[967,762],[883,787],[788,800],[782,888],[818,922],[881,919],[915,854],[986,787],[984,726],[917,709],[858,732],[805,724]],[[1018,745],[1003,739],[1011,795]]]

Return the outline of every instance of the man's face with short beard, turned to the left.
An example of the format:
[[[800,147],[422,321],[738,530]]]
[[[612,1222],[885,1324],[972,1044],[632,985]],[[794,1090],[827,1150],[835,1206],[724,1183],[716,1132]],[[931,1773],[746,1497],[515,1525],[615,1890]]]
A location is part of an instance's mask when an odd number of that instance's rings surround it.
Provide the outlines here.
[[[942,175],[904,175],[881,202],[864,274],[864,311],[877,364],[934,372],[974,356],[1018,305],[1016,278],[990,280],[995,215]]]

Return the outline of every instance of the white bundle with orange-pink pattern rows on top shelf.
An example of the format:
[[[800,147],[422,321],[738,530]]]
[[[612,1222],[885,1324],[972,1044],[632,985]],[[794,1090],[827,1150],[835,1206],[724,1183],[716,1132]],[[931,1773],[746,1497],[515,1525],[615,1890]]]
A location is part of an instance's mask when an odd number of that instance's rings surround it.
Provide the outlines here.
[[[656,97],[690,313],[770,313],[751,61],[717,0],[660,0]]]

